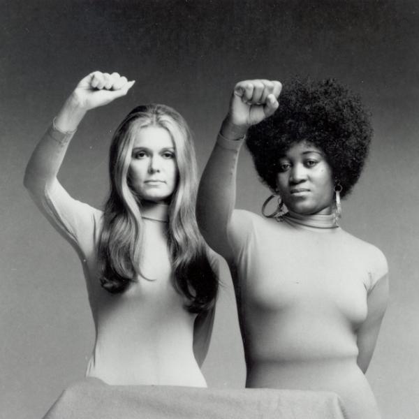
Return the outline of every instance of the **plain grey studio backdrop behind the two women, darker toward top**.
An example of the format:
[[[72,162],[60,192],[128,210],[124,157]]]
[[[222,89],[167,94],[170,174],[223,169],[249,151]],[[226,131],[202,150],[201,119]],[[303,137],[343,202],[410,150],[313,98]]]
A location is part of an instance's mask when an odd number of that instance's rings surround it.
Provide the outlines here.
[[[139,103],[172,105],[196,138],[202,170],[233,85],[295,73],[335,77],[372,112],[367,168],[342,224],[383,250],[390,305],[367,376],[385,419],[419,417],[419,7],[416,1],[8,1],[0,3],[0,417],[40,418],[82,378],[94,326],[80,263],[22,186],[36,142],[90,71],[137,82],[87,115],[61,182],[100,206],[113,130]],[[268,191],[244,151],[237,207]],[[204,365],[210,386],[244,385],[235,302],[225,270]]]

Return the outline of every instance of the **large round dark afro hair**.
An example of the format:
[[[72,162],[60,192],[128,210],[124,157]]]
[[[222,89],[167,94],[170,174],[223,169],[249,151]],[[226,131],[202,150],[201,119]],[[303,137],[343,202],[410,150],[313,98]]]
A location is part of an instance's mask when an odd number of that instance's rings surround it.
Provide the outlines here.
[[[360,177],[371,138],[359,96],[334,79],[294,79],[284,83],[274,115],[251,126],[246,143],[258,175],[274,191],[279,158],[293,144],[311,142],[324,152],[343,197]]]

